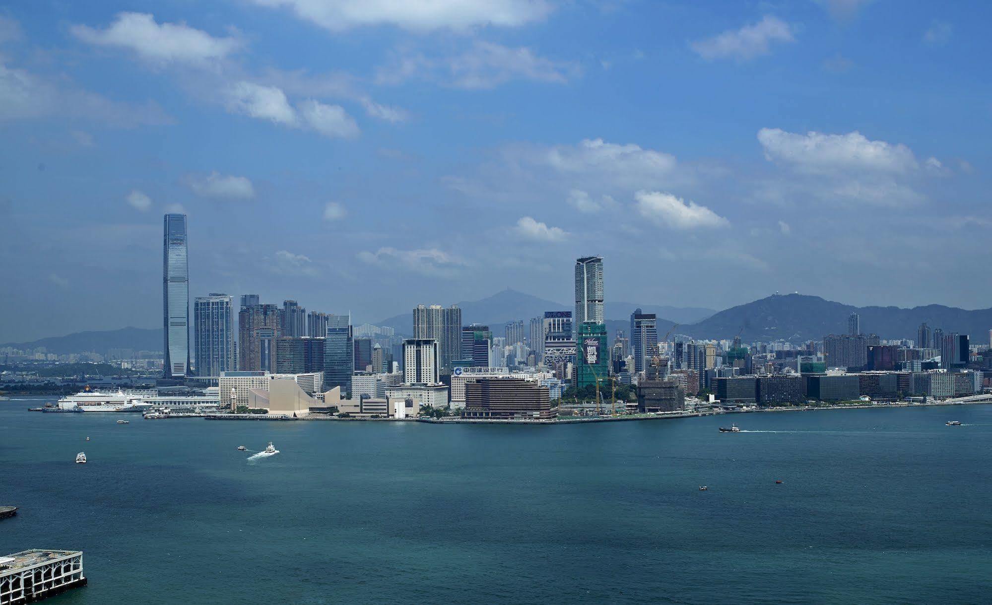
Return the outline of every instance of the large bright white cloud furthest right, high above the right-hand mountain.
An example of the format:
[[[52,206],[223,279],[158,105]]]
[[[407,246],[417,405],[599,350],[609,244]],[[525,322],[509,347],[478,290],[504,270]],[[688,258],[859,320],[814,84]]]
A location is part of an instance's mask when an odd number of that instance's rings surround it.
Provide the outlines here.
[[[854,131],[845,135],[807,132],[805,135],[778,128],[762,128],[758,141],[770,161],[788,164],[808,173],[865,170],[905,173],[919,165],[905,145],[871,141]]]

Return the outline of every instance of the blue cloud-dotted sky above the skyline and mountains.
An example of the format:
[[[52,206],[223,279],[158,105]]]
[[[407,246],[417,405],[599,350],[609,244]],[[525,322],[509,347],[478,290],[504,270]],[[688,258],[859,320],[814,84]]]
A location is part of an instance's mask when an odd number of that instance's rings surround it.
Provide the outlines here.
[[[0,342],[191,296],[992,304],[987,2],[0,5]]]

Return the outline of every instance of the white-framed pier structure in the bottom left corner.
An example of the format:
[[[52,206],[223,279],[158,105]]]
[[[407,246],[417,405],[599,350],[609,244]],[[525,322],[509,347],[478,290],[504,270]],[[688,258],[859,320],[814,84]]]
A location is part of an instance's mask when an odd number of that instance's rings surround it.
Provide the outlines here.
[[[85,585],[80,550],[33,548],[0,556],[0,605],[34,603]]]

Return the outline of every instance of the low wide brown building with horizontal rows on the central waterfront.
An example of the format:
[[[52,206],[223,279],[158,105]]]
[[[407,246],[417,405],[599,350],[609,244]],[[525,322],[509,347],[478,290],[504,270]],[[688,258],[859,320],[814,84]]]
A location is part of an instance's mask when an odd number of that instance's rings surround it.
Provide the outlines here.
[[[522,378],[478,378],[465,384],[462,418],[485,420],[553,420],[548,387]]]

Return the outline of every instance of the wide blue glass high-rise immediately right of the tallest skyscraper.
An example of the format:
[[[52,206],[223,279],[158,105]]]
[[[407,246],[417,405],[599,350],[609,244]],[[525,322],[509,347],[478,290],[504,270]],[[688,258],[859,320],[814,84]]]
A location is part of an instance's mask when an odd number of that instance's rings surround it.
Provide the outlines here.
[[[193,301],[193,335],[197,376],[220,376],[237,368],[231,297],[197,297]]]

